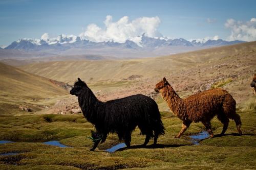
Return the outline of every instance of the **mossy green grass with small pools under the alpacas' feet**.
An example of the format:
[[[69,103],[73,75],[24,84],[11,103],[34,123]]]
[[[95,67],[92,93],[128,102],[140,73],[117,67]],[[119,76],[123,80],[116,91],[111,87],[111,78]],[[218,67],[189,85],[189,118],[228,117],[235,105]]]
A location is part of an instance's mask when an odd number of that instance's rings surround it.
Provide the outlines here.
[[[236,126],[230,121],[225,136],[191,145],[189,135],[200,132],[203,125],[191,124],[184,135],[176,139],[181,120],[170,112],[161,112],[166,132],[159,137],[158,147],[138,147],[145,137],[136,129],[132,134],[132,149],[112,154],[104,150],[120,142],[116,134],[110,134],[95,152],[89,151],[92,141],[87,136],[94,128],[82,114],[3,115],[0,139],[19,142],[0,144],[0,153],[20,154],[0,156],[0,169],[255,169],[255,113],[252,109],[238,110],[244,135],[236,135]],[[215,135],[222,130],[216,118],[212,120],[212,129]],[[72,148],[40,143],[53,139]]]

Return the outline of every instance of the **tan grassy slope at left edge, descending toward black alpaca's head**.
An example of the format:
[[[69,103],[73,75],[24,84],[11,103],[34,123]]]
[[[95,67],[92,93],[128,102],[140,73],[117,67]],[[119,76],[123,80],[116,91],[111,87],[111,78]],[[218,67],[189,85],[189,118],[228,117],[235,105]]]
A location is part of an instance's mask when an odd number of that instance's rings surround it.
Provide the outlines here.
[[[65,89],[18,68],[0,63],[0,114],[19,112],[19,106],[32,107],[52,103],[51,98],[65,95]]]

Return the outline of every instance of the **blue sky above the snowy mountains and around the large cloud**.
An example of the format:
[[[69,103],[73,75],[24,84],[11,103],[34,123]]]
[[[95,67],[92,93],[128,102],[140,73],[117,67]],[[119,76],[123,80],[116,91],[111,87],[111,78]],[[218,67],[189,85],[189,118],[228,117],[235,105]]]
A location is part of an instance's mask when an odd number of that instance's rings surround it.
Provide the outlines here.
[[[0,45],[20,38],[40,38],[44,33],[50,37],[78,36],[88,31],[92,23],[104,30],[107,15],[112,16],[112,22],[123,16],[128,16],[129,22],[142,17],[158,17],[160,22],[154,28],[170,38],[218,36],[227,40],[256,40],[253,19],[256,18],[256,1],[2,0]],[[228,19],[232,20],[228,22]],[[246,29],[237,32],[236,28],[242,26]]]

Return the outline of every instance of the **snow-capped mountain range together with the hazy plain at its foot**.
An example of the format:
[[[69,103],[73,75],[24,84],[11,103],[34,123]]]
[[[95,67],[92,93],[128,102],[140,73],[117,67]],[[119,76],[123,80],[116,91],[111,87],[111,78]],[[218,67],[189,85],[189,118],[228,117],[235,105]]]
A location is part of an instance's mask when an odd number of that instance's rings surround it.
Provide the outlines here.
[[[138,41],[125,42],[93,42],[74,35],[59,35],[56,38],[41,37],[41,39],[23,38],[0,49],[0,59],[31,59],[47,58],[47,60],[62,60],[100,58],[144,58],[166,56],[205,48],[231,45],[244,41],[218,40],[186,40],[183,38],[168,39],[165,37],[148,37],[145,34],[137,37]],[[3,47],[2,47],[3,48]],[[95,57],[96,56],[96,57]],[[57,57],[57,58],[56,58]]]

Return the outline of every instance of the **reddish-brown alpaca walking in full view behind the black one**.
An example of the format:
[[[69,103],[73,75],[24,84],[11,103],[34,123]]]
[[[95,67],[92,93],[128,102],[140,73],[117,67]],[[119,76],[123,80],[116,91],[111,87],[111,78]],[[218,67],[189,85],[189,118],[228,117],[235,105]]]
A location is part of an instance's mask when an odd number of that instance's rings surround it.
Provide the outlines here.
[[[190,95],[186,99],[181,99],[165,78],[156,84],[156,92],[161,92],[170,110],[183,120],[179,138],[192,122],[202,122],[210,137],[214,136],[211,130],[210,120],[217,115],[223,123],[221,135],[227,130],[229,119],[236,122],[239,134],[242,134],[241,119],[236,113],[236,101],[223,89],[212,89]]]

